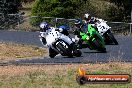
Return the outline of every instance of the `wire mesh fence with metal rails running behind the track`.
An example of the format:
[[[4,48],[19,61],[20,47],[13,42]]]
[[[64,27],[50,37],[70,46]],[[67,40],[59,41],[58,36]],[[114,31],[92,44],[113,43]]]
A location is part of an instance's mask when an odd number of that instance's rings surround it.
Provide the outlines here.
[[[26,30],[26,31],[36,31],[39,30],[38,25],[42,21],[49,21],[52,26],[57,27],[60,24],[66,24],[68,25],[71,30],[74,28],[74,21],[75,19],[65,19],[65,18],[55,18],[55,17],[39,17],[39,16],[23,16],[20,14],[8,14],[9,16],[17,16],[19,19],[17,22],[17,25],[13,26],[3,26],[3,22],[0,22],[0,28],[4,29],[16,29],[16,30]],[[2,14],[0,14],[0,18],[2,18]],[[2,20],[5,20],[2,18]],[[10,24],[10,22],[14,22],[12,20],[8,20],[9,22],[4,22],[6,25]],[[32,23],[32,21],[37,21],[35,23]],[[132,34],[132,23],[125,23],[125,22],[107,22],[108,25],[112,28],[111,30],[113,33],[125,33],[125,34]],[[32,24],[32,25],[31,25]]]

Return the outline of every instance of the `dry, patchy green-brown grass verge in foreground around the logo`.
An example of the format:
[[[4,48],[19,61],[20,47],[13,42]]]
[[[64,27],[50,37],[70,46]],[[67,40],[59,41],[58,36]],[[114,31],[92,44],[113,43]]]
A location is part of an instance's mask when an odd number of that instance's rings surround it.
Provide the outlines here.
[[[107,64],[105,64],[107,65]],[[130,74],[132,65],[127,63],[95,67],[96,64],[83,65],[89,74]],[[36,66],[37,67],[37,66]],[[33,66],[35,68],[35,66]],[[40,69],[41,68],[41,69]],[[127,84],[85,84],[76,82],[78,65],[38,66],[34,71],[26,71],[24,74],[1,75],[0,88],[131,88],[132,83]],[[26,69],[26,66],[25,66]]]

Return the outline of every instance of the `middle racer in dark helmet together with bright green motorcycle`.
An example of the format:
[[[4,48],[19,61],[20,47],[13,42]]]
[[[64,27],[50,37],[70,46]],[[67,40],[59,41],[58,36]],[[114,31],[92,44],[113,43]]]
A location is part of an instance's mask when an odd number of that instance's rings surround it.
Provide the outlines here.
[[[92,23],[83,23],[82,20],[77,19],[75,26],[75,35],[79,37],[79,48],[82,47],[82,43],[85,41],[88,44],[87,47],[91,50],[106,51],[104,39],[100,36],[97,32],[97,28]]]

